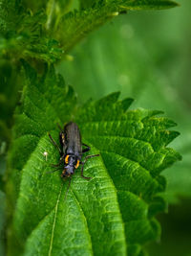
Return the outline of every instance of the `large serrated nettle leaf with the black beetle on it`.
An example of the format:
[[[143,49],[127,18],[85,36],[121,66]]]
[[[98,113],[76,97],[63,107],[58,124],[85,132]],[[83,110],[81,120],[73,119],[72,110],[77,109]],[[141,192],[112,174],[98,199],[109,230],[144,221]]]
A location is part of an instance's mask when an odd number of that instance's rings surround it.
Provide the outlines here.
[[[119,101],[119,93],[79,106],[53,67],[37,78],[24,65],[7,174],[8,255],[142,255],[143,244],[159,239],[155,215],[166,208],[160,173],[180,160],[167,147],[176,124],[160,111],[127,110],[133,100]],[[100,156],[85,165],[90,181],[76,171],[64,200],[68,181],[47,174],[59,160],[48,132],[58,143],[56,123],[71,120]]]

